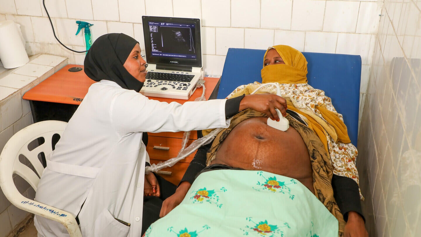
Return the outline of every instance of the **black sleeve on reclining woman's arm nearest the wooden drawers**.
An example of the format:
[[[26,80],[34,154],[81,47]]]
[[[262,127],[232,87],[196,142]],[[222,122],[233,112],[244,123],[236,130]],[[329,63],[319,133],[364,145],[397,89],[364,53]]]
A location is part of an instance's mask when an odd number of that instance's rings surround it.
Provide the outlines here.
[[[206,153],[208,153],[211,146],[212,142],[197,149],[195,157],[193,158],[192,162],[190,162],[189,167],[184,173],[180,183],[184,181],[193,183],[193,181],[195,181],[197,173],[206,167]]]

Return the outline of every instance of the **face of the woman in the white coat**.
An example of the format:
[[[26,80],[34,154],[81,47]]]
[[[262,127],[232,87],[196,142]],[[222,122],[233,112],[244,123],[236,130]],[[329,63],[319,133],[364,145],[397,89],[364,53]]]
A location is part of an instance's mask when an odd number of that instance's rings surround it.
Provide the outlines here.
[[[146,61],[141,57],[140,53],[141,49],[139,43],[136,43],[123,66],[134,78],[141,82],[145,82],[147,73],[145,67]]]

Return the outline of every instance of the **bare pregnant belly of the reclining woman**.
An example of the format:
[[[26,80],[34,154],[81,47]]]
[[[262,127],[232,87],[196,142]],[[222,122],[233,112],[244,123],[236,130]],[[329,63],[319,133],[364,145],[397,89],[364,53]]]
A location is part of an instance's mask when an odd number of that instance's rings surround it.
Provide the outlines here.
[[[314,193],[309,152],[301,135],[269,127],[267,118],[248,118],[225,138],[211,164],[263,170],[295,178]]]

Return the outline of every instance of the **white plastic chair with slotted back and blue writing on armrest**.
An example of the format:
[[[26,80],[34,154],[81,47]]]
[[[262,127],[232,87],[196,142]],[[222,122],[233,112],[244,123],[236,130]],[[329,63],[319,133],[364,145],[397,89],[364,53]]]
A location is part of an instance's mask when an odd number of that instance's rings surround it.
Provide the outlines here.
[[[37,191],[38,182],[40,181],[38,175],[41,177],[44,171],[43,164],[40,162],[38,156],[41,152],[45,156],[48,156],[53,151],[53,135],[58,134],[61,136],[66,125],[67,123],[63,121],[41,121],[31,124],[13,135],[4,146],[0,155],[0,186],[6,198],[16,207],[34,213],[35,215],[58,221],[66,227],[71,237],[82,237],[75,216],[64,210],[59,210],[24,197],[16,189],[15,183],[13,182],[13,174],[17,174],[24,178]],[[40,137],[43,137],[45,142],[32,151],[29,151],[29,143]],[[19,161],[19,156],[21,155],[25,156],[31,162],[38,175],[27,165]]]

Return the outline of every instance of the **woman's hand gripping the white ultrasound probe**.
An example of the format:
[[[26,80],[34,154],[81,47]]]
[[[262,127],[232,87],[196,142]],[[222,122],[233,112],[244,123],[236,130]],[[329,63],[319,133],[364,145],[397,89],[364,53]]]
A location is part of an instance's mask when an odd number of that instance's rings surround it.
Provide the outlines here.
[[[249,94],[242,98],[240,111],[247,108],[266,114],[272,120],[279,121],[278,109],[282,116],[287,115],[287,101],[276,94]]]

